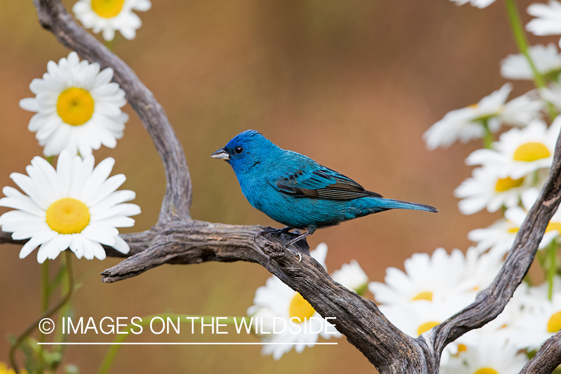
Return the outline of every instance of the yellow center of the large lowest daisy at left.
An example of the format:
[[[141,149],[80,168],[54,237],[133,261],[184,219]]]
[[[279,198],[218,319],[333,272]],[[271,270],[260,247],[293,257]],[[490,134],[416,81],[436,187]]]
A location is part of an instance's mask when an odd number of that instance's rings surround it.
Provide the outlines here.
[[[90,210],[80,200],[65,197],[47,209],[47,224],[59,234],[77,234],[90,223]]]

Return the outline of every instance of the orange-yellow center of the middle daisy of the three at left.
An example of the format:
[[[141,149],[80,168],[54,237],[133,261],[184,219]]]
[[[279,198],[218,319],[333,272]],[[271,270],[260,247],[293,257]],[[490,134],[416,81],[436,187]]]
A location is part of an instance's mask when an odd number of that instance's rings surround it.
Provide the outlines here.
[[[94,99],[82,88],[70,87],[58,95],[57,113],[62,121],[72,126],[88,122],[94,114]]]

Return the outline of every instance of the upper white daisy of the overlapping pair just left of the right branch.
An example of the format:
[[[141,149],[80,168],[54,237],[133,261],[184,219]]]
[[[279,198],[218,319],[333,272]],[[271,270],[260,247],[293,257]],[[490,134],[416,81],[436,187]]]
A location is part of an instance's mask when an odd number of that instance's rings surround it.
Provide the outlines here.
[[[448,255],[444,248],[437,248],[433,256],[413,253],[404,261],[405,272],[388,267],[385,283],[370,282],[368,289],[376,302],[383,304],[408,304],[415,301],[439,301],[456,298],[467,289],[463,287],[465,257],[460,250]],[[472,286],[473,287],[473,286]],[[462,306],[472,302],[467,295]]]

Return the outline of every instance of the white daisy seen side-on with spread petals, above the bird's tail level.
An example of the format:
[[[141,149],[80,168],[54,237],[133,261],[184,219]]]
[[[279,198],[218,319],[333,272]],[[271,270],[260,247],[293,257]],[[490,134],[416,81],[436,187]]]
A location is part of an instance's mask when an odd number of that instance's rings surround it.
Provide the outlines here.
[[[480,138],[484,134],[483,122],[487,123],[491,132],[496,132],[503,122],[525,126],[532,119],[541,116],[543,104],[530,94],[505,104],[511,91],[512,85],[507,83],[482,98],[479,103],[445,114],[423,134],[427,148],[432,150],[439,146],[448,147],[456,140],[467,142]]]

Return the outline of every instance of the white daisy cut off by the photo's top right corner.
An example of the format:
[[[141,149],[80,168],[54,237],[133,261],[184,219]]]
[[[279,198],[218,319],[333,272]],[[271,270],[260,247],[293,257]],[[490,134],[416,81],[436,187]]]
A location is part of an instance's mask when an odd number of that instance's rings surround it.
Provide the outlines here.
[[[528,6],[529,15],[537,17],[526,24],[526,30],[538,36],[561,34],[561,3],[549,0],[548,4],[534,3]],[[559,39],[561,47],[561,39]]]

